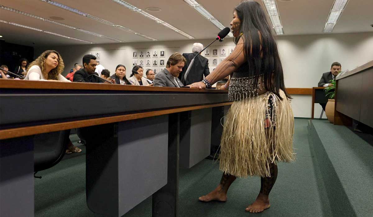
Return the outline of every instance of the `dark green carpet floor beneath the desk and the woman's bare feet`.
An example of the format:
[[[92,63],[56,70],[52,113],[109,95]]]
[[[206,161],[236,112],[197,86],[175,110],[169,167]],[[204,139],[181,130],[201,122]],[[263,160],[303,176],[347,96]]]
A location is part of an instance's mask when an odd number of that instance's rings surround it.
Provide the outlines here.
[[[179,216],[330,216],[323,184],[318,181],[317,161],[311,154],[307,136],[307,119],[295,119],[295,163],[279,163],[279,175],[270,194],[271,207],[260,214],[245,212],[260,189],[260,179],[236,179],[227,202],[203,203],[198,197],[219,183],[219,162],[203,160],[191,169],[180,169]],[[76,141],[76,136],[72,136]],[[100,216],[92,213],[85,201],[85,150],[69,154],[56,166],[41,171],[35,179],[35,216]],[[124,217],[150,217],[151,197]]]

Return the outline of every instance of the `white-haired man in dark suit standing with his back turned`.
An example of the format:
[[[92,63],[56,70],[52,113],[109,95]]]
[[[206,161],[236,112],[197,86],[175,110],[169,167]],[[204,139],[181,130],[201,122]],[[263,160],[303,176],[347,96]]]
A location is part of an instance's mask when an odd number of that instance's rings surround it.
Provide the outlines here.
[[[192,53],[184,53],[183,56],[186,58],[186,63],[183,71],[179,75],[179,79],[186,86],[195,82],[200,82],[203,80],[203,76],[208,76],[210,74],[209,60],[206,57],[200,55],[203,50],[203,45],[200,43],[194,43],[192,48]],[[194,59],[194,63],[188,73],[188,77],[184,80],[184,74],[186,69],[189,67],[189,63],[192,61],[193,57],[197,55]]]

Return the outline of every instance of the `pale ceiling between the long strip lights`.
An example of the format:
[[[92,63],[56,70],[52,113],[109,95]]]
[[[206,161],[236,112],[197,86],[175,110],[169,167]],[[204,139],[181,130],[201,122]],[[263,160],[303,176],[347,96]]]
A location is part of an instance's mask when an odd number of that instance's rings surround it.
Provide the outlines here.
[[[133,12],[111,0],[55,0],[69,7],[100,17],[133,31],[151,36],[159,41],[189,40],[153,20]],[[160,12],[148,12],[170,25],[192,35],[196,39],[214,38],[219,32],[212,23],[188,6],[183,0],[127,0],[132,5],[145,9],[159,7]],[[223,25],[229,26],[233,8],[241,0],[198,0]],[[262,4],[261,0],[256,0]],[[219,2],[219,3],[216,3]],[[283,24],[284,35],[327,34],[323,33],[333,0],[278,0],[278,8]],[[45,3],[41,0],[1,0],[0,4],[31,13],[46,19],[50,16],[62,17],[57,22],[100,33],[124,42],[149,42],[151,40],[129,33],[96,20],[77,15],[68,10]],[[262,4],[263,5],[263,4]],[[372,32],[373,0],[350,0],[332,33]],[[74,29],[65,28],[43,20],[0,9],[0,19],[34,28],[84,39],[96,44],[117,43],[110,39],[90,35]],[[0,35],[6,42],[38,45],[73,45],[87,44],[73,39],[62,38],[43,32],[37,32],[6,23],[0,23]]]

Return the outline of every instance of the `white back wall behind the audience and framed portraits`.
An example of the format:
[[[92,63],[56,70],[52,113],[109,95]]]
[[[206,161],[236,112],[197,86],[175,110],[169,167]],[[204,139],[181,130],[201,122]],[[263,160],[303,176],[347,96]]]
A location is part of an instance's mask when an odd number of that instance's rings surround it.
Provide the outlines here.
[[[141,58],[132,58],[132,52],[137,51],[138,55],[147,51],[151,52],[151,63],[157,60],[159,64],[160,51],[166,52],[165,62],[174,52],[191,52],[192,44],[200,42],[204,45],[210,43],[209,40],[188,40],[188,41],[164,41],[164,42],[146,42],[146,43],[123,43],[123,44],[101,44],[101,45],[79,45],[62,47],[43,47],[35,48],[37,56],[44,50],[54,49],[60,52],[65,63],[65,73],[67,74],[74,63],[82,62],[82,57],[89,53],[100,53],[100,64],[114,74],[115,67],[123,64],[127,68],[126,76],[129,76],[132,69],[132,61],[141,60]],[[370,60],[373,60],[373,32],[366,33],[345,33],[345,34],[323,34],[323,35],[298,35],[298,36],[279,36],[278,46],[282,66],[285,73],[286,87],[310,88],[317,86],[322,73],[330,70],[330,64],[338,61],[342,64],[342,70],[351,70],[361,66]],[[215,42],[210,46],[210,55],[213,49],[225,48],[229,52],[234,48],[231,38],[226,38],[224,42]],[[158,58],[153,58],[152,53],[157,51]],[[210,71],[214,57],[210,59]],[[218,63],[220,62],[220,57]],[[143,58],[146,63],[147,58]],[[148,68],[144,66],[144,68]],[[156,68],[160,70],[160,66]],[[295,117],[311,117],[311,96],[293,95],[293,111]],[[315,117],[319,117],[321,106],[315,105]],[[325,117],[325,116],[324,116]]]

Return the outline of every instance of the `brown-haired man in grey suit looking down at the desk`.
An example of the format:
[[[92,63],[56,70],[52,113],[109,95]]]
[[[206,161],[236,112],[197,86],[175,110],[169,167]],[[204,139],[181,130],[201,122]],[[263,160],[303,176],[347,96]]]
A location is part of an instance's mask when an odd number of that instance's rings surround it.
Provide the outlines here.
[[[178,79],[183,70],[186,59],[179,53],[172,54],[167,60],[166,68],[157,73],[154,79],[154,86],[157,87],[182,87],[184,86]]]

